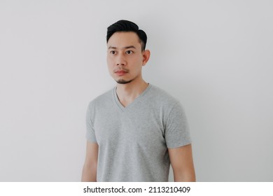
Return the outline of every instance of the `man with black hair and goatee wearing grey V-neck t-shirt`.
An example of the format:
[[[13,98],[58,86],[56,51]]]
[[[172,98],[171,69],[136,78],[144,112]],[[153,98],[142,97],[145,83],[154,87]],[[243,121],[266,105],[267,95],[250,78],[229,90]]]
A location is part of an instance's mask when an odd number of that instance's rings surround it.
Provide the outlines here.
[[[117,85],[90,102],[82,181],[195,181],[185,113],[142,78],[147,36],[120,20],[107,31],[107,64]]]

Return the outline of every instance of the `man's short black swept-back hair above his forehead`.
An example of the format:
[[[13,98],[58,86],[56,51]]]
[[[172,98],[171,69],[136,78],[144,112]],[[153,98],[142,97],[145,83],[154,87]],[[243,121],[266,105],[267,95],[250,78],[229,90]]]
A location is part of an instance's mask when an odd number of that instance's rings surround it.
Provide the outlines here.
[[[106,42],[108,43],[109,38],[118,31],[135,32],[137,36],[139,36],[139,41],[141,43],[141,50],[142,51],[145,50],[147,35],[143,30],[139,29],[139,26],[137,26],[134,22],[131,22],[128,20],[118,20],[118,22],[114,23],[113,25],[110,25],[107,28]]]

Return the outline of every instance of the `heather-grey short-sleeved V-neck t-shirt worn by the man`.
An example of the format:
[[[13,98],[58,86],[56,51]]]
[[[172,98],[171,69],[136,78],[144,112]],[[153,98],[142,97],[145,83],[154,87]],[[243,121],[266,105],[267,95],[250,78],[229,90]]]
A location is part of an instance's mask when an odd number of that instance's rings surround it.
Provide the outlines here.
[[[90,102],[87,140],[99,145],[97,181],[168,181],[169,153],[191,143],[179,102],[148,85],[124,107],[116,87]]]

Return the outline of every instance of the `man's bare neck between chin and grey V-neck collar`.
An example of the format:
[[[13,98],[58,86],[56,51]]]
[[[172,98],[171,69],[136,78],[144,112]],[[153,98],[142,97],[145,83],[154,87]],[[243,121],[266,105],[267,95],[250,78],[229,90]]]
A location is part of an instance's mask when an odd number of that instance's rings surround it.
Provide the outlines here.
[[[146,90],[148,83],[144,80],[135,83],[134,80],[131,83],[127,84],[118,84],[116,93],[118,99],[123,106],[127,106],[130,103],[134,102],[134,99],[139,97],[139,95]]]

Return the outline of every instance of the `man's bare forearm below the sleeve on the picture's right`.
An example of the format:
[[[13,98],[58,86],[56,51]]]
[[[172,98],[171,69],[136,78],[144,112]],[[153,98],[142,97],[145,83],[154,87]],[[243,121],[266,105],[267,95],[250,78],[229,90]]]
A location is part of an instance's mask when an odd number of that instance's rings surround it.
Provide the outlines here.
[[[194,182],[195,168],[191,144],[179,148],[168,148],[175,182]]]

